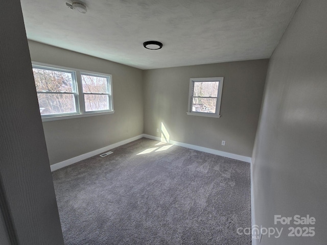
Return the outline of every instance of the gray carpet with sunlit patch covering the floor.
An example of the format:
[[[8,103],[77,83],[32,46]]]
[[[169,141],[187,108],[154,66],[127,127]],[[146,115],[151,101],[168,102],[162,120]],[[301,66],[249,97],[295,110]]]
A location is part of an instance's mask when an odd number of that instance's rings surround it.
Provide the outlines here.
[[[251,244],[249,163],[158,143],[53,173],[65,244]]]

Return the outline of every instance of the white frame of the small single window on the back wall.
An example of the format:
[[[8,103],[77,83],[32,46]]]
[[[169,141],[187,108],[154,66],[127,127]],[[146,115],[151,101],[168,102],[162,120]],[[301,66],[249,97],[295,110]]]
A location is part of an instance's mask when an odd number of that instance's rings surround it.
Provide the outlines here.
[[[192,111],[193,105],[193,93],[194,93],[194,83],[195,82],[219,82],[218,93],[217,93],[217,104],[216,104],[216,113],[207,113],[207,112],[194,112]],[[186,114],[192,116],[206,116],[206,117],[217,117],[220,115],[220,106],[221,106],[221,96],[223,93],[223,83],[224,77],[214,77],[214,78],[191,78],[190,79],[190,91],[189,91],[189,107]],[[215,97],[213,97],[215,98]]]

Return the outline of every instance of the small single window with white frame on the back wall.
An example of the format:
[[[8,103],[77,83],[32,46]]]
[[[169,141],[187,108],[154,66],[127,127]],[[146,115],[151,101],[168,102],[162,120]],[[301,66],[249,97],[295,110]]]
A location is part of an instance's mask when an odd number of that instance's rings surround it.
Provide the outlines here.
[[[188,115],[220,117],[223,77],[191,78]]]

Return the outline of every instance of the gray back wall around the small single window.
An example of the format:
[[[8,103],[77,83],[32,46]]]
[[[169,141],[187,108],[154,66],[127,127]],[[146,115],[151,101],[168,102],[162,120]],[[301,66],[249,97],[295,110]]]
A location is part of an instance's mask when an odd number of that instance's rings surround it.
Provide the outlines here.
[[[267,66],[265,59],[144,70],[144,133],[161,137],[162,122],[171,140],[250,157]],[[190,78],[202,77],[224,77],[220,118],[186,115]]]

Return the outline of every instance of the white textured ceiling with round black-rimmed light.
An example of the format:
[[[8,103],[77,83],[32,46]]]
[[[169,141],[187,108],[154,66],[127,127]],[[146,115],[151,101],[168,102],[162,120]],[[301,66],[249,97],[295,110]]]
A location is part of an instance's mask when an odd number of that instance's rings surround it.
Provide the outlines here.
[[[21,0],[27,37],[151,69],[269,58],[301,0],[84,0],[86,14],[66,2]]]

